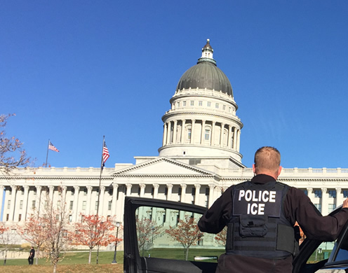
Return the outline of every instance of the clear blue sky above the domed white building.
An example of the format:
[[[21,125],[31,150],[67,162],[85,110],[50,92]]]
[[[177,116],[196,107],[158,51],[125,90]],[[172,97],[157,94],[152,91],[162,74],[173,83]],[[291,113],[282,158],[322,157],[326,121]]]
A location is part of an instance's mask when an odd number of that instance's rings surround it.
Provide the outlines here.
[[[210,38],[232,83],[243,164],[348,168],[348,1],[0,1],[0,113],[36,166],[156,156],[161,117]]]

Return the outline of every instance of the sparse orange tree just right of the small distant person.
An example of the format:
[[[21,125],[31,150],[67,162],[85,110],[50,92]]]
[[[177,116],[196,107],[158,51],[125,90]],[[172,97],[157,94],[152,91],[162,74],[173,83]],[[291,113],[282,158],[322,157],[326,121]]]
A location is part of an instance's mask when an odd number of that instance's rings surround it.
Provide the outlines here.
[[[17,228],[18,234],[23,239],[36,246],[36,265],[39,259],[41,246],[47,239],[46,225],[44,224],[44,222],[45,221],[41,217],[32,214],[31,216],[29,216],[29,218],[27,218],[27,221],[25,221],[24,225],[18,225]]]

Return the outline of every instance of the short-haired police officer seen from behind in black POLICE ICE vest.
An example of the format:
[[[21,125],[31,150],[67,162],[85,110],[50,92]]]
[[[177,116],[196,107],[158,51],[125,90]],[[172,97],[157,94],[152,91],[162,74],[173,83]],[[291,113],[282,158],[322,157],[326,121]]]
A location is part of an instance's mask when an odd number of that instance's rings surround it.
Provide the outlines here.
[[[298,251],[295,222],[309,239],[333,241],[348,220],[348,199],[334,216],[321,216],[302,190],[276,181],[281,155],[276,148],[255,153],[251,181],[229,187],[199,220],[202,232],[227,225],[226,253],[216,272],[292,272]]]

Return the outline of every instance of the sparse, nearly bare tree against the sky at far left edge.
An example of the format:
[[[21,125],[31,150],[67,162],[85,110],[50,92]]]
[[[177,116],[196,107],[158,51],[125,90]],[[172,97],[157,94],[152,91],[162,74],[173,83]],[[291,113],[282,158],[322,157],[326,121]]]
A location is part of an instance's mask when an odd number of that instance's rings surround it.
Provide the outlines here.
[[[27,167],[31,160],[22,148],[23,143],[15,137],[6,137],[7,119],[14,114],[0,115],[0,170],[9,174],[18,167]]]

